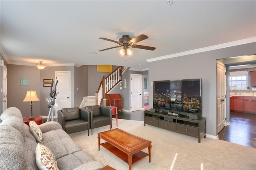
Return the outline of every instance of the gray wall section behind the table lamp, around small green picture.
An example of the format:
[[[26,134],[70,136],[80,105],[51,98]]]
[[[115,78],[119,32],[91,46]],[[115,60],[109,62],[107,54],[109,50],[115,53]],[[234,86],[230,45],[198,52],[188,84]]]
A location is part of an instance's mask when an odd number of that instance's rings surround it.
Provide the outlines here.
[[[20,78],[28,79],[28,86],[20,86]],[[33,102],[33,115],[40,115],[43,95],[41,96],[42,82],[40,70],[35,66],[20,66],[8,64],[7,67],[7,107],[17,107],[22,116],[30,116],[30,102],[22,102],[28,90],[36,90],[40,101]]]

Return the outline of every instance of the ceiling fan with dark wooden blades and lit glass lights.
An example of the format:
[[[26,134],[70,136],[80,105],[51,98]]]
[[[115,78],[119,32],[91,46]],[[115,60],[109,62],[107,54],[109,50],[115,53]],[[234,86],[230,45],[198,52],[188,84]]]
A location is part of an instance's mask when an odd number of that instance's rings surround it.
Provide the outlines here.
[[[110,40],[108,38],[100,38],[102,40],[107,40],[107,41],[111,41],[114,42],[116,44],[118,44],[119,46],[115,46],[115,47],[110,47],[110,48],[106,48],[103,50],[99,50],[99,51],[105,51],[105,50],[110,50],[112,48],[118,48],[118,47],[122,47],[123,48],[121,50],[118,51],[119,56],[121,57],[131,57],[133,55],[133,51],[130,50],[129,46],[131,46],[132,48],[140,48],[140,49],[144,49],[144,50],[155,50],[155,47],[150,47],[150,46],[142,46],[142,45],[136,45],[137,42],[140,42],[142,40],[147,39],[148,36],[141,34],[139,36],[136,36],[135,38],[130,38],[129,35],[123,35],[122,38],[120,38],[118,41],[115,40]],[[125,60],[126,61],[126,60]]]

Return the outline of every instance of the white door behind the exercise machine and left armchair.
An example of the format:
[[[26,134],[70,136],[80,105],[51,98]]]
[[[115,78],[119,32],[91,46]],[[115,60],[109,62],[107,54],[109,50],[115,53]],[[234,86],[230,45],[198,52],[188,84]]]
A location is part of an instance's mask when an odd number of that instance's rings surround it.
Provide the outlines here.
[[[55,83],[58,80],[56,86],[56,100],[55,100],[55,116],[58,117],[57,112],[62,108],[71,108],[71,73],[70,71],[56,71]],[[54,90],[54,87],[53,89]]]

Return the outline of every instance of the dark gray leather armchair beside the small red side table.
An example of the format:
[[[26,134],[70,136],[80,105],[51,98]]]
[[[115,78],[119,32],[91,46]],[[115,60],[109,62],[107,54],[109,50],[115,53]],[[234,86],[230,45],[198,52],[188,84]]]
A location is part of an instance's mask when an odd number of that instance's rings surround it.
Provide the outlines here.
[[[105,106],[86,106],[86,109],[90,110],[90,128],[99,128],[109,125],[111,129],[112,110]]]

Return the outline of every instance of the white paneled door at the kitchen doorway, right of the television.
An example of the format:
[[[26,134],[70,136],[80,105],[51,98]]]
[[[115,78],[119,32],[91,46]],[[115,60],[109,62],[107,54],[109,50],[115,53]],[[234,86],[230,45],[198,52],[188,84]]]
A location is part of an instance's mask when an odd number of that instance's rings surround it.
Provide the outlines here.
[[[217,131],[226,125],[226,66],[217,61]]]

